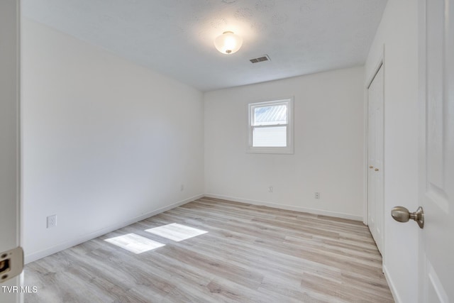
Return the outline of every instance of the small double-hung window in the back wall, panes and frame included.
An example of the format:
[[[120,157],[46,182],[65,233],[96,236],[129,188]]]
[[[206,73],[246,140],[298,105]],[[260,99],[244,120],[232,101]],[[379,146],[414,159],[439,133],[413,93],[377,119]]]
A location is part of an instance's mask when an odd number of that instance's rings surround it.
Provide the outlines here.
[[[293,98],[249,104],[248,152],[293,153]]]

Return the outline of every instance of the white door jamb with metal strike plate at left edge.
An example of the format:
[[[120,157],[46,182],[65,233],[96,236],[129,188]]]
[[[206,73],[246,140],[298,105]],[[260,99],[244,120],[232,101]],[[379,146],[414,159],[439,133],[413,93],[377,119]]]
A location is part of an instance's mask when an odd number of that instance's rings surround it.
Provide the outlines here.
[[[0,1],[0,302],[20,302],[18,0]],[[8,252],[8,253],[6,253]],[[13,277],[11,280],[7,280]],[[3,281],[3,282],[2,282]],[[18,287],[18,288],[14,288]]]

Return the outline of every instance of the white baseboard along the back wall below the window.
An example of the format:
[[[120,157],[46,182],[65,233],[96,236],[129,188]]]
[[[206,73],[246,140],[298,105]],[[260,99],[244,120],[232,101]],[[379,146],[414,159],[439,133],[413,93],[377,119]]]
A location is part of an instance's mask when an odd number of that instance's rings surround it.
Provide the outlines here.
[[[222,196],[219,194],[205,194],[205,197],[230,200],[233,202],[240,202],[240,203],[246,203],[246,204],[269,206],[269,207],[273,207],[275,209],[287,209],[290,211],[301,211],[301,212],[306,212],[309,214],[320,214],[323,216],[334,216],[336,218],[362,221],[362,216],[355,216],[353,214],[344,214],[344,213],[336,212],[336,211],[326,211],[323,209],[309,209],[309,208],[301,207],[301,206],[276,204],[276,203],[272,203],[272,202],[262,202],[262,201],[243,199],[243,198],[237,198],[237,197]]]

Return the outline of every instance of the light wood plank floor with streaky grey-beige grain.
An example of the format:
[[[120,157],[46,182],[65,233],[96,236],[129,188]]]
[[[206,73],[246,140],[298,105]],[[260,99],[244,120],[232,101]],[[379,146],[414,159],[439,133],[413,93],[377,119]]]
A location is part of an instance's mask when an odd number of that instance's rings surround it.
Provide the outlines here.
[[[184,241],[146,229],[183,224]],[[104,240],[165,244],[135,254]],[[394,302],[362,222],[202,198],[26,265],[26,302]]]

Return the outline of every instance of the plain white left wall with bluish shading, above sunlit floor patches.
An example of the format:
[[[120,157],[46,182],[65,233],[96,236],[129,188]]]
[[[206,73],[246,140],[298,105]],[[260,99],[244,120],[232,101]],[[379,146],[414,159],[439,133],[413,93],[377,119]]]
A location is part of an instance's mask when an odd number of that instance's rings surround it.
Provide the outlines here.
[[[22,43],[27,262],[203,194],[201,92],[27,19]]]

